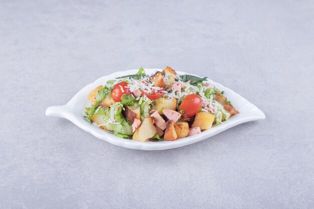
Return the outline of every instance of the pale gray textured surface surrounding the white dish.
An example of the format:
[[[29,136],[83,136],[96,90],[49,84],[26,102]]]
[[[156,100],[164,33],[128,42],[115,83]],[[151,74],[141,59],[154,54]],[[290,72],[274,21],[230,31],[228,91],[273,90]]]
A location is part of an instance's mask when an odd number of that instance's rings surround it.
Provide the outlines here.
[[[100,76],[209,76],[266,120],[139,151],[45,116]],[[313,1],[1,1],[1,208],[313,208]]]

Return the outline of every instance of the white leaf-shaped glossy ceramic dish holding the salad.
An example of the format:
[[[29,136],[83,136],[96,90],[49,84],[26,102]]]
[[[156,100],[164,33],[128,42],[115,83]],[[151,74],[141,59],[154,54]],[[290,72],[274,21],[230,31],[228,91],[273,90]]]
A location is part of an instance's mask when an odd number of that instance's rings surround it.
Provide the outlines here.
[[[89,92],[99,85],[104,85],[107,80],[114,79],[119,76],[135,74],[138,70],[128,70],[113,73],[108,76],[101,77],[97,79],[94,83],[91,83],[81,89],[66,105],[62,106],[51,106],[47,108],[46,115],[54,117],[62,117],[70,120],[75,125],[81,129],[91,133],[99,139],[105,140],[111,144],[122,146],[130,149],[141,149],[141,150],[163,150],[172,149],[195,142],[204,140],[211,136],[214,136],[224,130],[227,130],[233,126],[239,125],[241,123],[265,119],[265,114],[258,109],[255,105],[241,97],[239,94],[235,93],[231,89],[224,87],[223,85],[216,83],[210,79],[208,81],[221,91],[225,91],[224,95],[232,102],[239,114],[231,117],[229,120],[223,122],[218,126],[213,126],[209,130],[205,130],[200,134],[188,136],[176,141],[156,141],[156,142],[138,142],[131,139],[122,139],[112,133],[108,133],[93,124],[87,122],[83,117],[83,111],[85,107],[90,106],[90,102],[87,99]],[[162,71],[162,69],[145,69],[147,74],[151,74],[155,71]],[[190,74],[177,71],[178,74]],[[197,75],[196,75],[197,76]],[[61,127],[60,127],[61,128]],[[245,130],[244,130],[245,131]]]

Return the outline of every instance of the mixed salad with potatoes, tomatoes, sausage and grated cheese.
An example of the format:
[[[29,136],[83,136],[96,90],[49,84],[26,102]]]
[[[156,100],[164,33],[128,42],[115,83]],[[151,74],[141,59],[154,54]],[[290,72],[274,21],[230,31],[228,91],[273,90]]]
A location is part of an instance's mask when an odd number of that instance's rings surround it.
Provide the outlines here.
[[[84,117],[121,138],[174,141],[201,133],[238,114],[207,77],[179,75],[171,67],[152,75],[109,80],[93,89]]]

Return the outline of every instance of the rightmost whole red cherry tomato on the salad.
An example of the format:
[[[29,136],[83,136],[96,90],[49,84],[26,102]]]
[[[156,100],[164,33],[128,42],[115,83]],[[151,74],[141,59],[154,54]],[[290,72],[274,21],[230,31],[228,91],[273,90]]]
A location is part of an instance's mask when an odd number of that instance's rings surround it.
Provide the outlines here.
[[[196,115],[196,113],[198,113],[201,107],[202,107],[201,97],[196,94],[189,94],[182,100],[179,110],[180,111],[184,110],[183,116],[190,118]]]

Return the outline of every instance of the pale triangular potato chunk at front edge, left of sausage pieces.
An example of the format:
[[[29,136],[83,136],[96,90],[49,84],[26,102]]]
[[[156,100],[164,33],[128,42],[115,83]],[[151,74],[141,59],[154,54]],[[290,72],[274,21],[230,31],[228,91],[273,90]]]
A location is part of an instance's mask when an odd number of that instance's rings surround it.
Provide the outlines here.
[[[133,134],[132,139],[135,141],[147,141],[157,133],[151,117],[145,117],[142,124]]]

